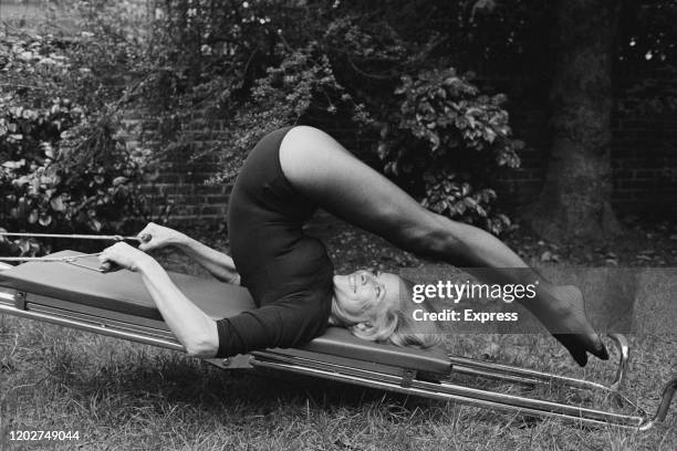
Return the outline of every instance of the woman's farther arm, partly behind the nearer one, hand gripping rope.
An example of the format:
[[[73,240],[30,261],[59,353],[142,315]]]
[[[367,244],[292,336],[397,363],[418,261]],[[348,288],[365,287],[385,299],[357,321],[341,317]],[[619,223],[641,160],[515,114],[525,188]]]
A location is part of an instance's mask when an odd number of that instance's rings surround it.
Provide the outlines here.
[[[211,249],[185,233],[153,222],[148,223],[148,226],[139,232],[139,237],[144,234],[149,235],[150,240],[142,242],[138,247],[139,250],[147,252],[154,249],[174,245],[198,262],[219,281],[235,285],[240,284],[240,274],[238,274],[236,270],[235,262],[225,253]]]

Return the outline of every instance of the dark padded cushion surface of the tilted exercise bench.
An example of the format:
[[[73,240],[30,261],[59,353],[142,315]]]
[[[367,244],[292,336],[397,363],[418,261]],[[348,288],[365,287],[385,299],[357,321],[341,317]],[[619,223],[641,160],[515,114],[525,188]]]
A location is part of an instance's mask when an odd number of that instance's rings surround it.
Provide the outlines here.
[[[50,256],[79,254],[62,251]],[[98,266],[95,256],[79,259],[76,262],[91,268]],[[171,272],[169,276],[190,301],[213,319],[256,308],[244,287]],[[143,318],[162,321],[140,275],[126,270],[103,274],[64,262],[30,262],[0,271],[0,286],[44,296],[46,300],[43,298],[42,303],[53,298],[118,312],[138,317],[139,324],[144,323]],[[419,350],[381,345],[356,338],[341,327],[330,327],[323,336],[300,348],[437,374],[446,374],[450,367],[442,349]]]

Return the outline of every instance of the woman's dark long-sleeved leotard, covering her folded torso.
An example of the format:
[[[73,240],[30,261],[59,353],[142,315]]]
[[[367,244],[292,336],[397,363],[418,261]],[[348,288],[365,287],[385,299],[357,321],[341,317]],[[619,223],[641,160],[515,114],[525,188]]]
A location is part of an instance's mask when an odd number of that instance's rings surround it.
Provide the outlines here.
[[[257,144],[230,196],[232,259],[258,308],[217,322],[219,357],[294,346],[327,326],[334,268],[324,245],[302,230],[315,203],[291,186],[280,166],[280,144],[290,129]]]

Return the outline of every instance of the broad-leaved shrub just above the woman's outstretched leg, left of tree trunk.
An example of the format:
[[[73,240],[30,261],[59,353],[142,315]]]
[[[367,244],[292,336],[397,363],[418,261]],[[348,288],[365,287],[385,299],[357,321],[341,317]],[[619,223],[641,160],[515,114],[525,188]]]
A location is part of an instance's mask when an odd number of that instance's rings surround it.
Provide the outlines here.
[[[522,143],[511,138],[506,96],[480,94],[454,69],[406,76],[395,93],[403,97],[399,112],[379,146],[386,172],[423,191],[421,203],[433,211],[497,234],[510,226],[491,212],[497,195],[490,188],[499,168],[520,164]]]

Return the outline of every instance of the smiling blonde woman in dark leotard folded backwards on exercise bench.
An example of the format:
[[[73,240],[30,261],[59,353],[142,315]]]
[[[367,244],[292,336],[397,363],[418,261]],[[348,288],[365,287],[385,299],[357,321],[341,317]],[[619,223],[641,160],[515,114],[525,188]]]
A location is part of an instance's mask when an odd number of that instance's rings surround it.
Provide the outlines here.
[[[322,334],[327,324],[372,340],[434,344],[434,337],[408,334],[403,327],[400,298],[407,296],[400,295],[403,281],[397,275],[367,271],[334,275],[323,244],[302,231],[317,207],[406,251],[458,266],[497,269],[496,280],[487,282],[520,283],[514,272],[502,268],[523,268],[535,277],[491,234],[424,209],[327,134],[305,126],[267,135],[248,156],[229,203],[232,259],[179,232],[148,224],[142,233],[152,240],[139,250],[117,243],[102,253],[101,261],[140,273],[167,325],[190,355],[220,357],[294,346]],[[183,249],[219,280],[240,281],[258,308],[217,322],[209,318],[143,252],[165,245]],[[555,337],[581,366],[587,352],[608,358],[585,317],[581,292],[539,279],[539,295],[525,306],[551,331],[571,331]]]

